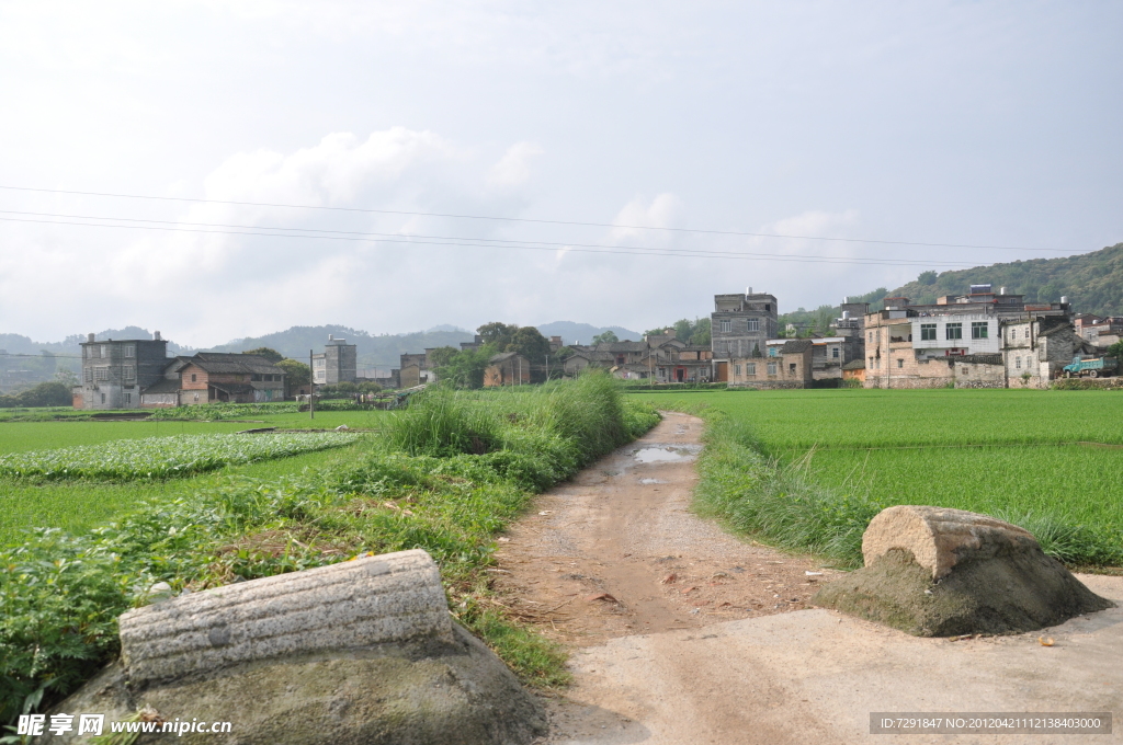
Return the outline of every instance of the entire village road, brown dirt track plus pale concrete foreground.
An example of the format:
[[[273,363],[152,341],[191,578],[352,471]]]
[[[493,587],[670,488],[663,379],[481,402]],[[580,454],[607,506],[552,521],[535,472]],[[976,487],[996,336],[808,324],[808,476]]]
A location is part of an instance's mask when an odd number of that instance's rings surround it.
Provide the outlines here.
[[[948,642],[810,608],[830,570],[688,512],[701,426],[667,414],[503,542],[504,605],[576,647],[549,743],[1123,742],[1123,609]],[[1123,578],[1081,579],[1123,605]],[[870,735],[875,711],[1114,711],[1115,734]]]

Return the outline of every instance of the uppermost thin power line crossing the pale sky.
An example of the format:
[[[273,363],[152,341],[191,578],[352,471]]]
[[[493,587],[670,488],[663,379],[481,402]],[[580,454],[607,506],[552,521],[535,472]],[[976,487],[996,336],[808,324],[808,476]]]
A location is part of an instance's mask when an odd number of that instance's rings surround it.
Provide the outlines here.
[[[497,222],[528,222],[537,224],[551,224],[551,226],[575,226],[584,228],[622,228],[627,230],[659,230],[666,232],[679,232],[679,233],[701,233],[709,236],[742,236],[748,238],[795,238],[800,240],[823,240],[823,241],[836,241],[844,243],[878,243],[883,246],[916,246],[926,248],[973,248],[973,249],[994,249],[1002,251],[1056,251],[1057,249],[1051,248],[1026,248],[1024,246],[978,246],[971,243],[930,243],[922,241],[907,241],[907,240],[873,240],[864,238],[832,238],[824,236],[792,236],[783,233],[760,233],[760,232],[746,232],[738,230],[703,230],[696,228],[657,228],[652,226],[620,226],[608,222],[578,222],[575,220],[538,220],[532,218],[505,218],[495,215],[482,215],[482,214],[457,214],[449,212],[417,212],[408,210],[375,210],[371,208],[351,208],[351,206],[319,206],[314,204],[284,204],[277,202],[240,202],[234,200],[204,200],[195,199],[190,196],[153,196],[146,194],[118,194],[113,192],[81,192],[75,190],[64,190],[64,188],[34,188],[30,186],[4,186],[0,185],[0,188],[7,191],[18,191],[18,192],[39,192],[47,194],[75,194],[81,196],[108,196],[113,199],[130,199],[130,200],[152,200],[161,202],[194,202],[199,204],[235,204],[240,206],[274,206],[283,208],[290,210],[323,210],[332,212],[360,212],[367,214],[405,214],[412,217],[427,217],[427,218],[453,218],[456,220],[493,220]]]

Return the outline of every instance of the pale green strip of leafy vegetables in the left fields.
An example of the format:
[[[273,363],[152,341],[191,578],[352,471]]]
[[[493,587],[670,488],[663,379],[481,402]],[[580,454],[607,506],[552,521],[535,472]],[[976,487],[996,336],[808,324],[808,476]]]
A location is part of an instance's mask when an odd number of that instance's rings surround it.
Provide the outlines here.
[[[100,445],[0,456],[0,476],[133,480],[175,478],[230,465],[287,458],[350,444],[343,432],[295,434],[185,434],[117,440]]]

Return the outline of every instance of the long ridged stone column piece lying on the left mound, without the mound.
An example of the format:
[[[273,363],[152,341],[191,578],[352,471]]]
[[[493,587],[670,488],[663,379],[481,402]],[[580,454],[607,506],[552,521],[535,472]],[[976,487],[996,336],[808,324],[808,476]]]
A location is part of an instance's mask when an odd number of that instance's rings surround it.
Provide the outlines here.
[[[135,683],[286,654],[453,637],[440,571],[421,550],[194,592],[130,610],[119,624]]]

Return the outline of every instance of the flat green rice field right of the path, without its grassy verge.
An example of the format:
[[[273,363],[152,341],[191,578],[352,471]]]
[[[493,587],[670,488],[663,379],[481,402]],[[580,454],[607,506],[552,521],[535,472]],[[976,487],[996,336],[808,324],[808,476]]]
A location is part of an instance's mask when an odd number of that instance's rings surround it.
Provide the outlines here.
[[[1119,393],[841,389],[637,397],[723,412],[785,476],[840,502],[969,509],[1035,533],[1083,536],[1074,539],[1074,557],[1107,555],[1112,563],[1123,557]],[[1047,536],[1038,537],[1046,543]]]

